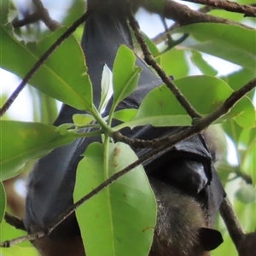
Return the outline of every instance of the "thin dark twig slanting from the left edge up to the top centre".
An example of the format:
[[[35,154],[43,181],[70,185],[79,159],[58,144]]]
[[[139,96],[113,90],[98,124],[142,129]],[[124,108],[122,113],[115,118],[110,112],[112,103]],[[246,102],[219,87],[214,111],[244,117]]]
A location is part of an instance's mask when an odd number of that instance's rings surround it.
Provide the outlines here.
[[[77,29],[77,27],[80,26],[90,16],[92,12],[93,9],[87,10],[84,15],[82,15],[78,20],[74,21],[73,25],[70,26],[67,31],[64,32],[61,37],[58,38],[55,43],[49,47],[47,51],[45,51],[44,55],[42,55],[42,57],[35,63],[32,69],[26,74],[25,78],[22,79],[21,83],[12,93],[12,95],[9,96],[7,102],[4,103],[3,107],[0,109],[0,117],[3,116],[3,113],[5,113],[9,109],[9,107],[15,101],[15,98],[19,96],[20,91],[23,90],[28,81],[32,79],[32,76],[38,71],[39,67],[42,67],[44,62],[48,60],[49,56],[53,54],[55,49],[57,49],[67,38],[69,38],[72,33]]]

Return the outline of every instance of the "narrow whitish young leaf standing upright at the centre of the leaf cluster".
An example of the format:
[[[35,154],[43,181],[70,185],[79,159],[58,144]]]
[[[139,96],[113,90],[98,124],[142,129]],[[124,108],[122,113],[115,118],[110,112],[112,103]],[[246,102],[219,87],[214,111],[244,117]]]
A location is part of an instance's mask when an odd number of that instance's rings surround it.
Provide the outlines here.
[[[103,113],[108,105],[108,101],[113,95],[113,75],[111,70],[105,64],[102,72],[102,96],[99,106],[99,113]]]

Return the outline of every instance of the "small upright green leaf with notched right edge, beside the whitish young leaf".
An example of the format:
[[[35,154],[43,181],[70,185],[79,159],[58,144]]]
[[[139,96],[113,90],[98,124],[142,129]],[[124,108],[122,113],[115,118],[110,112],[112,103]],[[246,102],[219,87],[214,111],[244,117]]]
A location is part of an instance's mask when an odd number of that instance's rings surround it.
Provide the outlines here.
[[[136,89],[142,68],[135,66],[132,50],[121,45],[113,63],[113,105],[117,105]]]

